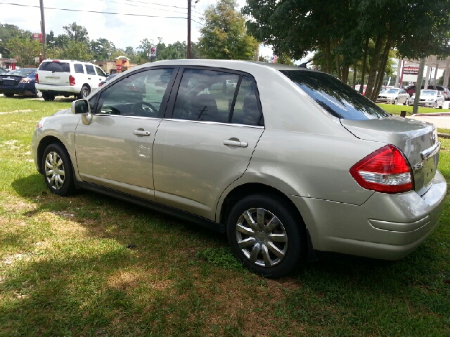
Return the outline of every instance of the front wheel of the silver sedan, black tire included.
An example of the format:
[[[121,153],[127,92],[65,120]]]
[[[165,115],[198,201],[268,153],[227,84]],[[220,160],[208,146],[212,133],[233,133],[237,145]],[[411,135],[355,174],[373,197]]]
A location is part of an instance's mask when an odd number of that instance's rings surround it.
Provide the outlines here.
[[[72,161],[63,145],[47,146],[41,160],[44,180],[52,193],[66,196],[75,192]]]

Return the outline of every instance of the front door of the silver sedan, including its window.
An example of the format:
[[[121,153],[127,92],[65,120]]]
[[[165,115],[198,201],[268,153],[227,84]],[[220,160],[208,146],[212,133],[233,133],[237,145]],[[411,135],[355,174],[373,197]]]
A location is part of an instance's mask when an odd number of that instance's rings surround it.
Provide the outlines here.
[[[143,70],[105,88],[90,100],[91,122],[75,131],[82,180],[154,200],[153,140],[165,114],[174,68]],[[158,88],[146,98],[145,82]]]

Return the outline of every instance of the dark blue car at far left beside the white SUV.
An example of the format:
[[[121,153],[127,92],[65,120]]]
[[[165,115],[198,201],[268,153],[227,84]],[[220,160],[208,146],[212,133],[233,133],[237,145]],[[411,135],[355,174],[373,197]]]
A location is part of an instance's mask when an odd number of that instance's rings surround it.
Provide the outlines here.
[[[3,93],[6,97],[27,95],[41,98],[41,91],[34,86],[35,73],[36,68],[21,68],[0,75],[0,93]]]

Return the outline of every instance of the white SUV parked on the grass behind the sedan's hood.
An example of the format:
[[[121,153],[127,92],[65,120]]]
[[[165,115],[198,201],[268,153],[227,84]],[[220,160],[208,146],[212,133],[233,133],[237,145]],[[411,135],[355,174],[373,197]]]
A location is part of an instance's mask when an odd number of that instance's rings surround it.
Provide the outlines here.
[[[106,78],[100,67],[77,60],[44,60],[36,74],[36,87],[44,100],[55,95],[85,98]]]

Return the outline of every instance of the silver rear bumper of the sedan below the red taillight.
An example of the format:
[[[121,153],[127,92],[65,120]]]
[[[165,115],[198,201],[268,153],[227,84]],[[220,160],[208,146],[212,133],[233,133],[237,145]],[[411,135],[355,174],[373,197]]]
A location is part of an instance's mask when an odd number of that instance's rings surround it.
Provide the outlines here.
[[[416,192],[374,193],[356,206],[292,197],[317,251],[398,260],[416,249],[435,229],[444,207],[446,181],[437,171],[432,187]],[[306,209],[305,209],[306,206]]]

